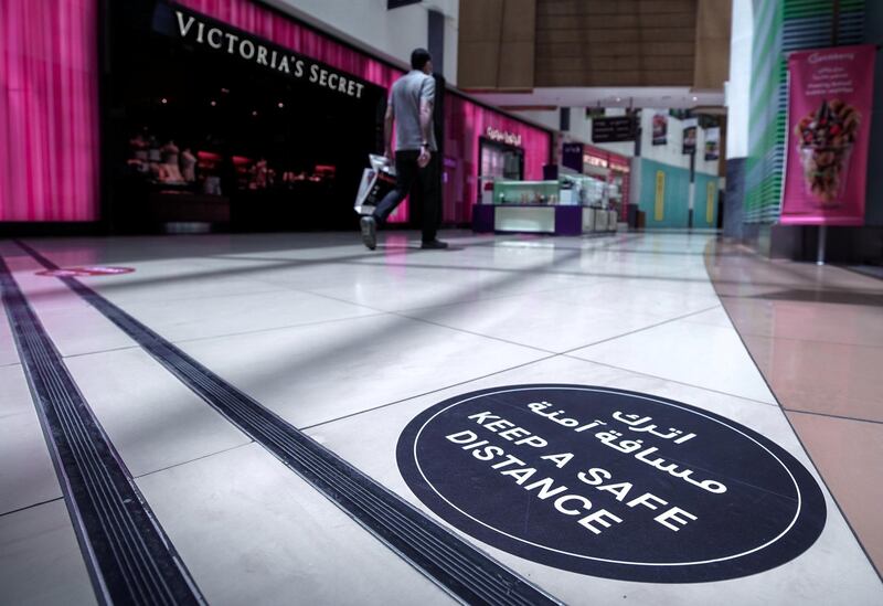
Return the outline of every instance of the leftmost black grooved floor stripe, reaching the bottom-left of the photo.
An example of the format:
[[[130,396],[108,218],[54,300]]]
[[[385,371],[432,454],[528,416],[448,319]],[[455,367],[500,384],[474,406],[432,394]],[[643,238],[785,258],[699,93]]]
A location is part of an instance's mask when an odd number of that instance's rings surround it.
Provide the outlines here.
[[[2,258],[0,290],[98,602],[204,604]]]

